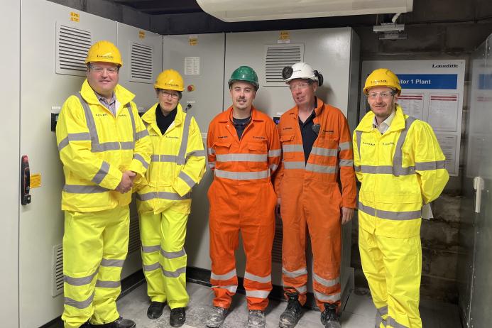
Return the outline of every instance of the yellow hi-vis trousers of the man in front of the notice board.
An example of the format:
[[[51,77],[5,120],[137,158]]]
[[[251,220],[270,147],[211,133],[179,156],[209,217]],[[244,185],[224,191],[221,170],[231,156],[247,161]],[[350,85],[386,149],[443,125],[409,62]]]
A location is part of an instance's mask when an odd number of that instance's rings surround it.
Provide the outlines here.
[[[359,227],[359,250],[362,270],[376,306],[376,327],[422,328],[420,236],[376,236]]]

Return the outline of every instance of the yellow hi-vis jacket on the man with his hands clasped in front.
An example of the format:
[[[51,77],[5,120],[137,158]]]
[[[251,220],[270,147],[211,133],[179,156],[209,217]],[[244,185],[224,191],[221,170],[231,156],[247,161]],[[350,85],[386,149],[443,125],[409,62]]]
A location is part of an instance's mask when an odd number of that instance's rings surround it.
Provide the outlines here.
[[[63,210],[94,212],[129,204],[131,192],[114,190],[122,173],[146,173],[152,148],[132,102],[135,95],[120,85],[114,94],[116,116],[99,103],[87,80],[62,106],[56,140],[65,173]]]

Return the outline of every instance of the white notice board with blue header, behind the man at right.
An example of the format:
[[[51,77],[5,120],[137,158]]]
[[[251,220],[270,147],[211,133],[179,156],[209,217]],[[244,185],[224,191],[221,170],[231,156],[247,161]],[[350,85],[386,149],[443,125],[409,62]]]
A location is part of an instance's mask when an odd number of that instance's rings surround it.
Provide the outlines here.
[[[398,75],[402,87],[398,104],[405,114],[432,126],[446,156],[446,169],[449,175],[457,176],[465,60],[363,61],[360,119],[371,110],[363,94],[363,85],[366,77],[377,68],[389,68]]]

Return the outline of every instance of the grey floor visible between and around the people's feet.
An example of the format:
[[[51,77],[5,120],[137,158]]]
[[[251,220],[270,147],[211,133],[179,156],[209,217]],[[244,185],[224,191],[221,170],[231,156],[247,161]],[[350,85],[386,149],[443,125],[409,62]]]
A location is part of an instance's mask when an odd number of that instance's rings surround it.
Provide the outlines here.
[[[195,283],[188,283],[190,304],[186,312],[186,324],[182,327],[206,327],[207,312],[212,307],[213,293],[210,288]],[[123,317],[133,319],[138,328],[163,328],[169,325],[169,308],[165,307],[163,316],[156,320],[147,318],[146,311],[149,305],[146,295],[146,284],[140,285],[131,293],[121,297],[118,309]],[[246,297],[237,294],[234,296],[232,310],[226,317],[222,327],[245,327],[248,311]],[[285,303],[270,301],[266,312],[266,327],[278,327],[278,317],[285,309]],[[344,312],[341,315],[341,324],[344,328],[373,328],[376,310],[371,302],[371,295],[367,290],[356,290],[349,295]],[[457,305],[435,302],[420,302],[420,315],[424,328],[461,328]],[[305,311],[296,328],[320,327],[319,312]]]

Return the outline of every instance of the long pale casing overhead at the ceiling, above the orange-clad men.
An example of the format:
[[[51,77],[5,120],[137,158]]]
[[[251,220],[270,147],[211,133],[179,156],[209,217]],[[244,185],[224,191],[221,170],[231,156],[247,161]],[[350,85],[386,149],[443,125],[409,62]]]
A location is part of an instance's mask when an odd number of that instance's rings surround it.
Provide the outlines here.
[[[406,13],[413,0],[250,0],[238,6],[235,0],[197,0],[203,11],[222,21]]]

